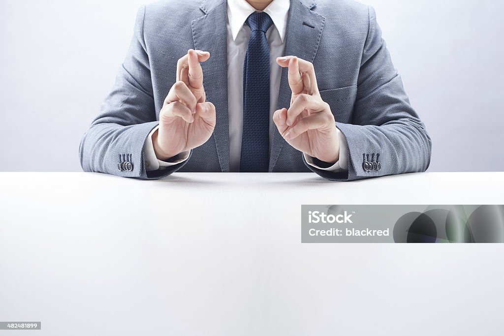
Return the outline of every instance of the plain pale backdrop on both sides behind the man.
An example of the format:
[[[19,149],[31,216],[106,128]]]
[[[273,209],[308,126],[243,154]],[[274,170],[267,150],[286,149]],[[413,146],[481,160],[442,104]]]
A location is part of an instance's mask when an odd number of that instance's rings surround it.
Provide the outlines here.
[[[143,0],[0,0],[0,171],[79,171]],[[367,0],[433,142],[430,171],[502,171],[504,2]]]

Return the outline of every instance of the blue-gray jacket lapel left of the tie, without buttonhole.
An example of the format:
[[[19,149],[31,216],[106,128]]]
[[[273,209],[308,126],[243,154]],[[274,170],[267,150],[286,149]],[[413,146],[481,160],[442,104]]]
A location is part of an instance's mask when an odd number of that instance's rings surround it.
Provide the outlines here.
[[[201,66],[207,101],[215,104],[217,120],[212,138],[222,172],[229,172],[226,5],[225,0],[204,2],[201,10],[205,16],[192,21],[195,49],[210,52],[210,59]]]

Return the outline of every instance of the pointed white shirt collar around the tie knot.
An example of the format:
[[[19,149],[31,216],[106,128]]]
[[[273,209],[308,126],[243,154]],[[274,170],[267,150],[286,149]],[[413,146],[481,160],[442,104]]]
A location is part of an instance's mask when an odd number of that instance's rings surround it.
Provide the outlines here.
[[[287,30],[287,17],[289,15],[290,0],[273,0],[263,12],[267,13],[280,34],[282,42],[285,40],[285,31]],[[245,24],[248,16],[256,12],[256,9],[245,0],[228,0],[227,17],[233,40]]]

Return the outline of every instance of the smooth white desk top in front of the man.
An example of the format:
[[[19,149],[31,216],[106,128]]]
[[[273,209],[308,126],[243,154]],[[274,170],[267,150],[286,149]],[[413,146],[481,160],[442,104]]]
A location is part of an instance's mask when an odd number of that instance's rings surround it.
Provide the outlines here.
[[[502,244],[301,244],[300,214],[502,204],[504,173],[0,173],[0,188],[0,321],[42,322],[23,334],[502,334]]]

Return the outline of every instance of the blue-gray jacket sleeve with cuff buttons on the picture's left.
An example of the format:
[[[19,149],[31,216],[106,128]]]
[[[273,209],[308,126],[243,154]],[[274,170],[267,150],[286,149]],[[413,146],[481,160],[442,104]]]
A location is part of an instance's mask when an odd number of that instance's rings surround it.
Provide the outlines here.
[[[143,146],[156,118],[149,57],[144,40],[145,7],[137,14],[135,33],[114,87],[100,114],[82,137],[79,156],[86,172],[141,179],[163,178],[186,162],[165,170],[146,170]],[[129,162],[129,164],[123,164]]]

